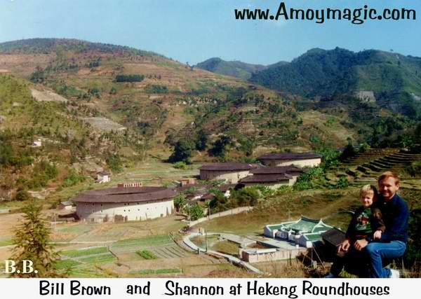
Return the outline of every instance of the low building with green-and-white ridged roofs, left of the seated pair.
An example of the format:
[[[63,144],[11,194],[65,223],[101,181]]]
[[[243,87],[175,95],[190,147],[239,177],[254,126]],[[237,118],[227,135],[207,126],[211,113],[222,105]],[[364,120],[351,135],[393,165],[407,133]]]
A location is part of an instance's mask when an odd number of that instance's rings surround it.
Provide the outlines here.
[[[333,228],[321,219],[301,217],[298,221],[266,225],[264,235],[271,238],[286,239],[300,246],[311,248],[314,242],[321,241],[321,234]]]

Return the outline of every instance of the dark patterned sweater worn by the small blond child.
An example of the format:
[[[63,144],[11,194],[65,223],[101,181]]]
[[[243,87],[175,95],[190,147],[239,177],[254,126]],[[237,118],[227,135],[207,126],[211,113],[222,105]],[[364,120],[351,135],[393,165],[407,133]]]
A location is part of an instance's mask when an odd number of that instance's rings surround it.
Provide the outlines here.
[[[361,219],[359,219],[364,214],[369,214],[367,215],[368,225],[366,227],[361,225]],[[351,239],[353,243],[357,239],[369,239],[373,237],[373,232],[376,230],[385,231],[385,223],[382,221],[381,210],[373,205],[368,208],[361,206],[354,212],[345,236]]]

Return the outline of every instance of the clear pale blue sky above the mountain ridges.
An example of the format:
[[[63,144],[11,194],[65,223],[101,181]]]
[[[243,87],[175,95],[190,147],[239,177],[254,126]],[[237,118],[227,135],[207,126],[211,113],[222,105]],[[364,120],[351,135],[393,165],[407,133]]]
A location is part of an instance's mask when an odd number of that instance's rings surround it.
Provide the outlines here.
[[[417,20],[235,20],[234,9],[415,9]],[[150,50],[189,64],[210,57],[290,61],[311,48],[421,57],[419,0],[0,0],[0,42],[71,38]]]

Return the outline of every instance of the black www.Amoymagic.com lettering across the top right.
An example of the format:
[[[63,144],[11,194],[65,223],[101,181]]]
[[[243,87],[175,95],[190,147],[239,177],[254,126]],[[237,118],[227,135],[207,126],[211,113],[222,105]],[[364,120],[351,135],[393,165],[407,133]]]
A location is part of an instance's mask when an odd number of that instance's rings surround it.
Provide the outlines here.
[[[375,8],[318,8],[298,9],[287,8],[281,2],[275,14],[269,8],[234,9],[236,20],[313,20],[323,24],[326,20],[348,20],[355,25],[361,25],[366,20],[416,20],[416,11],[406,8],[385,8],[377,11]]]

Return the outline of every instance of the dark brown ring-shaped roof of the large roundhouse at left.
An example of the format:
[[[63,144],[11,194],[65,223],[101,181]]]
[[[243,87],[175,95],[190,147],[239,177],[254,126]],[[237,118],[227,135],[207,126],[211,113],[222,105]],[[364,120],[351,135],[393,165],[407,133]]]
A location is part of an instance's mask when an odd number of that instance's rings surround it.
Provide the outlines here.
[[[107,188],[80,193],[73,202],[146,202],[170,199],[174,195],[174,190],[165,187]]]

